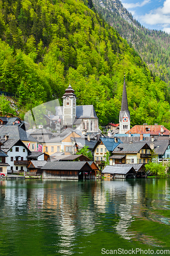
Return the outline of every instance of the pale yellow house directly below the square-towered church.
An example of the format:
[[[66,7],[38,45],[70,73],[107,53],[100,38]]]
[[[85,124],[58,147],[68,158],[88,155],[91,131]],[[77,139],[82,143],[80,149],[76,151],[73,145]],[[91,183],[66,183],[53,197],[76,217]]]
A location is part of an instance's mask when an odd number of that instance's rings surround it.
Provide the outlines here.
[[[65,152],[65,155],[73,153],[71,138],[81,136],[70,129],[64,130],[59,136],[42,143],[42,152],[53,155],[56,152]]]

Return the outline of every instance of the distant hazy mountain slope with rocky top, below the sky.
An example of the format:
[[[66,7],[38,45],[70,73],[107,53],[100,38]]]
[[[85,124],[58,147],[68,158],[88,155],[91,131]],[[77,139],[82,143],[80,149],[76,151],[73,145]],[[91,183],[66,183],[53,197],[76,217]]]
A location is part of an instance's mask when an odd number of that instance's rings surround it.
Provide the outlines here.
[[[163,81],[170,81],[170,35],[163,31],[141,26],[119,0],[92,0],[96,10],[102,14],[120,36],[133,45],[142,60]]]

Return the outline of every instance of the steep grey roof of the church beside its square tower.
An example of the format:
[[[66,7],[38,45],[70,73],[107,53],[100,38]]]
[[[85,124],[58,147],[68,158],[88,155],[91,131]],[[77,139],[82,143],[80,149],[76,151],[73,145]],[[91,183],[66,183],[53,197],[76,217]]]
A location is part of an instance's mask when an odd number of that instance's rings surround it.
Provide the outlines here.
[[[96,118],[98,119],[93,105],[76,106],[76,119],[78,118]]]

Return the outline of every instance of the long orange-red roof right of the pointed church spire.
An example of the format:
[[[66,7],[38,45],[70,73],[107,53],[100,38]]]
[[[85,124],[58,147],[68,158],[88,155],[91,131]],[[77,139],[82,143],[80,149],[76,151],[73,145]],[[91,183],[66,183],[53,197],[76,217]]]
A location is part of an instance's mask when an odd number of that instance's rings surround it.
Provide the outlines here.
[[[151,135],[169,135],[170,131],[163,125],[135,125],[128,132],[128,134],[151,134]]]

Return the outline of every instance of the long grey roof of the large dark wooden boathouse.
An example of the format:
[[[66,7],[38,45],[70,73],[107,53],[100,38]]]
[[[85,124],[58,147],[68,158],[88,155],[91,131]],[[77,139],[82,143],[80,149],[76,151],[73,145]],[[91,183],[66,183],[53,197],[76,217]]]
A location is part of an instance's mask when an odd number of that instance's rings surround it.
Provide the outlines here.
[[[80,170],[85,164],[88,164],[87,162],[69,162],[69,161],[53,161],[53,162],[47,162],[43,169],[47,170]],[[89,165],[89,164],[88,164]]]

